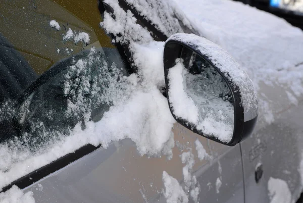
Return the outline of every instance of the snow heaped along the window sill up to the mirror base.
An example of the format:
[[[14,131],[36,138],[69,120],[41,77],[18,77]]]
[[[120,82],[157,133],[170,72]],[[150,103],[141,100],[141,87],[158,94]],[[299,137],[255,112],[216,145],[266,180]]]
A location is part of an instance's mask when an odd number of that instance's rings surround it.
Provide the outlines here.
[[[128,77],[119,76],[119,80],[117,80],[117,74],[113,75],[115,77],[108,75],[104,79],[99,78],[100,83],[109,82],[112,85],[99,94],[100,99],[113,105],[108,112],[104,113],[102,120],[97,123],[86,121],[84,130],[78,123],[74,129],[71,129],[69,136],[60,133],[57,133],[56,136],[48,136],[55,138],[35,150],[24,146],[22,140],[17,138],[10,143],[1,143],[0,188],[88,143],[95,146],[102,144],[106,148],[112,141],[130,138],[136,143],[141,155],[172,156],[172,147],[175,143],[171,129],[175,120],[170,113],[167,99],[159,91],[159,84],[164,84],[163,55],[161,53],[155,56],[150,55],[150,53],[163,50],[163,45],[164,42],[153,42],[150,48],[148,48],[148,44],[134,45],[138,50],[145,50],[138,54],[138,58],[135,60],[138,63],[143,63],[144,60],[147,62],[141,66],[139,74],[132,74]],[[91,49],[87,58],[75,61],[75,65],[71,67],[76,70],[75,73],[85,73],[89,65],[102,63],[93,57],[93,52],[95,52],[94,49]],[[146,57],[140,58],[144,53]],[[106,68],[114,66],[117,65],[100,66],[105,68],[102,74],[106,73]],[[160,75],[162,77],[159,77]],[[140,77],[146,78],[142,80]],[[155,78],[157,80],[154,80]],[[86,86],[88,83],[85,81],[84,77],[78,84],[83,85],[83,90],[88,87]],[[66,93],[71,85],[69,82],[70,80],[67,80],[65,84]],[[97,91],[97,89],[95,90]],[[85,106],[85,98],[81,97],[81,94],[76,96],[79,97],[74,101],[84,102],[78,105]],[[73,104],[69,104],[69,106],[71,113],[77,112],[77,109],[73,108]],[[39,123],[36,125],[37,131],[41,132],[41,136],[47,137],[47,133],[51,132],[43,131],[43,125],[42,127],[39,125]]]

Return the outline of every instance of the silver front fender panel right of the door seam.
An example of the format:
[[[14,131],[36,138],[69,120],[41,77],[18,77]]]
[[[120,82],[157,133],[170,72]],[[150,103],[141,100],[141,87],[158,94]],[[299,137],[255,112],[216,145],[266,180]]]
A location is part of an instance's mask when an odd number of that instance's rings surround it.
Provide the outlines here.
[[[260,112],[254,133],[241,143],[245,202],[295,202],[302,192],[302,103],[290,104],[286,91],[291,90],[262,85],[259,98],[274,119],[269,123]]]

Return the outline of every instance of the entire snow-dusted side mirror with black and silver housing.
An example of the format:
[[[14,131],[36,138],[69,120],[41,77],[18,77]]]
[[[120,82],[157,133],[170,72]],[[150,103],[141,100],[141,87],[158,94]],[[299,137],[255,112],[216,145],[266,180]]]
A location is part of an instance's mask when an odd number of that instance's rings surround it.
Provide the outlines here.
[[[254,85],[219,45],[194,34],[174,34],[165,43],[164,72],[170,111],[184,127],[230,146],[254,129]]]

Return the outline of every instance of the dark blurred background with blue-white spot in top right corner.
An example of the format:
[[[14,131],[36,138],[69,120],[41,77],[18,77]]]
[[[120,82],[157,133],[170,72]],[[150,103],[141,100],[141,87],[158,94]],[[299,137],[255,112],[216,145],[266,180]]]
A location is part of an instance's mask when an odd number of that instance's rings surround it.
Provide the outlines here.
[[[303,30],[303,0],[234,0],[284,18]]]

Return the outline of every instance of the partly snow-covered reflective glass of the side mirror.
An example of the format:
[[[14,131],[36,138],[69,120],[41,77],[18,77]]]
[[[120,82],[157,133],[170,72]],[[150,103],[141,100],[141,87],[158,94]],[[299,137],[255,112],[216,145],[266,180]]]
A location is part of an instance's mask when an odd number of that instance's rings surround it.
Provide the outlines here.
[[[233,97],[228,84],[205,59],[183,47],[169,69],[169,101],[173,114],[207,137],[228,143],[233,136]]]

